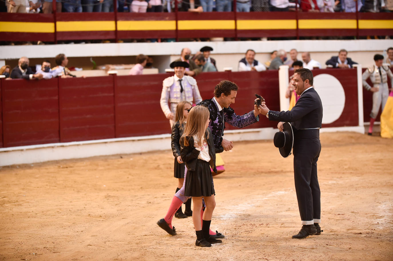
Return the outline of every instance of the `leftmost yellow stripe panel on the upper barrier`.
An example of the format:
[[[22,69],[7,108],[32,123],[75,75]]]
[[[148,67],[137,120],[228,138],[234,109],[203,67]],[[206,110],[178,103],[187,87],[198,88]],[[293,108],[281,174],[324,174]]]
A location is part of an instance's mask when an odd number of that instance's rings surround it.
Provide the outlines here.
[[[0,22],[0,32],[54,33],[54,23],[43,22]]]

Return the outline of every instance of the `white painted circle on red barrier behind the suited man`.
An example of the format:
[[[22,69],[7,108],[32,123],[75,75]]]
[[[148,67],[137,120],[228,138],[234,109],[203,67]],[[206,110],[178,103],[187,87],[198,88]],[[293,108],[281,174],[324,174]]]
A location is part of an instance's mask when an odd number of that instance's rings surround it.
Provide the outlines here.
[[[340,118],[345,105],[345,93],[340,81],[333,75],[322,73],[314,77],[313,86],[322,101],[322,123],[336,121]]]

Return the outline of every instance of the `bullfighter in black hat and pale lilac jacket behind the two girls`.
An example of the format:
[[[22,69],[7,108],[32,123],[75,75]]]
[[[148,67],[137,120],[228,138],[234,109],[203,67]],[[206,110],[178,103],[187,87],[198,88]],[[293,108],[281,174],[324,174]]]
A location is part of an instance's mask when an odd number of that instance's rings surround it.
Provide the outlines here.
[[[185,68],[188,67],[187,62],[178,60],[172,62],[171,68],[174,68],[174,76],[162,81],[160,105],[165,117],[169,119],[171,128],[174,123],[176,106],[179,102],[187,100],[191,104],[198,104],[202,101],[196,80],[191,76],[184,75]],[[171,107],[169,107],[169,103]]]

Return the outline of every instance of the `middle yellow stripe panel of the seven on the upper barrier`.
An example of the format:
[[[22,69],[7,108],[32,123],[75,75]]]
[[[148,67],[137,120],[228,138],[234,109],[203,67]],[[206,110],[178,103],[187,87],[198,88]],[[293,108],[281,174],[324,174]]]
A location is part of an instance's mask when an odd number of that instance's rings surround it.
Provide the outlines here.
[[[180,20],[179,30],[234,30],[235,20]]]

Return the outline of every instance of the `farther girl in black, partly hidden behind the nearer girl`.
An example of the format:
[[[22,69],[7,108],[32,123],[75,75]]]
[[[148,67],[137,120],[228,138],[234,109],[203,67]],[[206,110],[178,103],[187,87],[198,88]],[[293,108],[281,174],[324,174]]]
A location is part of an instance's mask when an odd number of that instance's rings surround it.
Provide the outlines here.
[[[177,178],[177,188],[176,192],[180,190],[184,183],[184,162],[180,156],[180,137],[183,135],[185,122],[187,121],[188,111],[191,109],[192,105],[186,100],[179,102],[176,106],[175,123],[172,126],[172,151],[174,156],[174,177]],[[175,192],[175,193],[176,193]],[[185,203],[184,214],[182,212],[182,206],[174,214],[177,218],[185,218],[192,215],[191,211],[191,199],[187,200]]]

